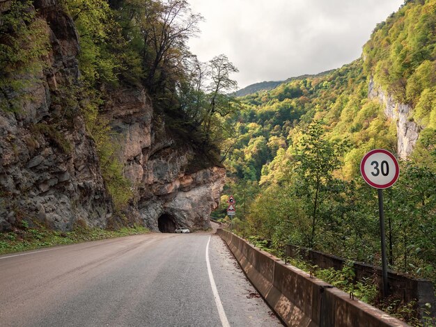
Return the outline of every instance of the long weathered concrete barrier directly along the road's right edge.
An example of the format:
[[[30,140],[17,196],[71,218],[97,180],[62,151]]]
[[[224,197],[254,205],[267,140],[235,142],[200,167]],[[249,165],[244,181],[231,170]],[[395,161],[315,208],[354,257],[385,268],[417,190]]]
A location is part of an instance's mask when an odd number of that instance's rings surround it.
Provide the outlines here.
[[[287,326],[407,326],[225,230],[217,231],[245,274]]]

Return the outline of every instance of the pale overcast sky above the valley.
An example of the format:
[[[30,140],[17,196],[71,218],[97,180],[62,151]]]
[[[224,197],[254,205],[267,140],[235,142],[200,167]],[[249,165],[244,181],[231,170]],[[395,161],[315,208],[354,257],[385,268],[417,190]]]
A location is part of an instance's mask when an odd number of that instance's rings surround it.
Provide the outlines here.
[[[404,0],[188,0],[205,22],[189,41],[200,61],[226,54],[239,88],[341,67]]]

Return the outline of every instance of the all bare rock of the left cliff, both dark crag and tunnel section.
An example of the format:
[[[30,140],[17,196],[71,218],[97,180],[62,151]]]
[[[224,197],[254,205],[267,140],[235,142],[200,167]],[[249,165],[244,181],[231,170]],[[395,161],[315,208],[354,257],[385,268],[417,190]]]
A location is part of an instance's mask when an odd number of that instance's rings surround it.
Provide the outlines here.
[[[0,14],[8,3],[0,0]],[[47,67],[24,90],[29,96],[22,97],[20,110],[0,110],[0,231],[22,219],[60,230],[70,230],[79,220],[104,228],[114,209],[84,119],[76,112],[68,127],[55,125],[56,115],[65,113],[55,100],[59,88],[70,88],[79,78],[77,31],[55,0],[33,4],[47,22],[51,51]],[[0,93],[0,102],[8,96],[15,95]],[[164,232],[179,226],[208,228],[224,186],[224,168],[192,169],[192,158],[199,154],[171,136],[140,88],[114,90],[107,118],[120,144],[125,177],[132,182],[130,221]],[[186,173],[188,168],[194,173]]]

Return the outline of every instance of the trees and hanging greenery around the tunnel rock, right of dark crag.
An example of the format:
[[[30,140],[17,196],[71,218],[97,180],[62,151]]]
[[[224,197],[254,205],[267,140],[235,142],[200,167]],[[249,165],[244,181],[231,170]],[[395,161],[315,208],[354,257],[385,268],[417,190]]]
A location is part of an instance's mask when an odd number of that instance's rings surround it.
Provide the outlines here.
[[[93,90],[84,107],[88,131],[116,206],[126,205],[132,195],[116,147],[108,142],[109,122],[98,113],[108,88],[146,88],[155,111],[166,116],[169,133],[205,154],[194,169],[219,164],[217,143],[228,135],[223,117],[237,107],[230,74],[238,70],[224,55],[200,63],[189,52],[187,40],[198,33],[201,15],[182,0],[65,0],[65,6],[79,31],[84,87]]]

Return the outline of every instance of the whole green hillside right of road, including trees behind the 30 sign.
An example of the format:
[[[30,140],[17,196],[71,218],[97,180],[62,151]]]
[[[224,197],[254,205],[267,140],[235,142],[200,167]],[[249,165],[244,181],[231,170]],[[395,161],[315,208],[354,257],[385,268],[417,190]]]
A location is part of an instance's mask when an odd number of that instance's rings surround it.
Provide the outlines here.
[[[236,230],[380,264],[377,192],[359,163],[384,148],[402,159],[385,191],[389,264],[435,280],[435,45],[436,1],[405,1],[356,61],[241,97],[225,149]]]

